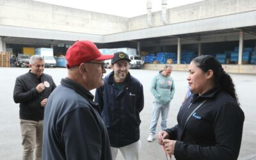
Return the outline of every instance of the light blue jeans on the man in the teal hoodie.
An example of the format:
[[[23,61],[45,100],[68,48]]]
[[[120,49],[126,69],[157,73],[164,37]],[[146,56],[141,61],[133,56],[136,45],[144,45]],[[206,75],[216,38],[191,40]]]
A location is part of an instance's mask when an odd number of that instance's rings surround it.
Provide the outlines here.
[[[167,117],[168,117],[168,113],[169,113],[169,109],[170,109],[170,103],[168,104],[159,104],[157,102],[153,103],[153,115],[152,115],[152,121],[149,127],[149,131],[156,134],[156,125],[157,125],[157,121],[158,118],[160,116],[161,113],[161,130],[163,131],[164,129],[166,129],[166,123],[167,123]]]

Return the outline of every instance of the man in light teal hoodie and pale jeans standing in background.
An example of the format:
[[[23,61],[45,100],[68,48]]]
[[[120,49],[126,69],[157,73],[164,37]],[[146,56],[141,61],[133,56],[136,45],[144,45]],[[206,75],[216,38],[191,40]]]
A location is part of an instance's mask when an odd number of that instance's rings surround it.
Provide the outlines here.
[[[155,138],[156,126],[161,113],[161,129],[166,129],[166,122],[170,108],[170,102],[173,99],[175,85],[172,73],[172,65],[165,65],[163,70],[152,79],[150,92],[154,95],[152,121],[149,127],[150,134],[147,141],[152,142]]]

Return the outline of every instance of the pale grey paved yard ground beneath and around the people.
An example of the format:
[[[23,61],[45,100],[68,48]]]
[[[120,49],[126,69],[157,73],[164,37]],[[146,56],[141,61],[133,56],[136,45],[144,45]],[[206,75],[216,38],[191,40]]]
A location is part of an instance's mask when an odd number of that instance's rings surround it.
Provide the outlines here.
[[[0,67],[0,159],[22,159],[22,145],[19,125],[19,104],[13,102],[13,88],[17,76],[28,72],[29,68],[3,68]],[[107,73],[111,70],[107,70]],[[158,70],[131,69],[132,76],[138,78],[143,84],[145,106],[141,111],[141,153],[140,159],[160,160],[166,159],[163,148],[153,141],[147,142],[148,127],[152,116],[153,96],[149,91],[150,81]],[[50,74],[56,85],[60,84],[61,78],[67,76],[66,68],[45,68],[45,73]],[[184,99],[188,83],[187,72],[173,71],[172,77],[175,81],[175,95],[170,104],[168,115],[168,126],[177,124],[176,116],[180,104]],[[236,85],[237,95],[241,108],[244,111],[245,121],[243,129],[243,140],[239,159],[256,159],[256,75],[250,74],[230,74]],[[95,90],[92,90],[94,94]],[[157,132],[160,130],[157,124]],[[77,145],[79,147],[79,145]],[[124,158],[118,153],[117,160]],[[174,158],[173,158],[174,159]]]

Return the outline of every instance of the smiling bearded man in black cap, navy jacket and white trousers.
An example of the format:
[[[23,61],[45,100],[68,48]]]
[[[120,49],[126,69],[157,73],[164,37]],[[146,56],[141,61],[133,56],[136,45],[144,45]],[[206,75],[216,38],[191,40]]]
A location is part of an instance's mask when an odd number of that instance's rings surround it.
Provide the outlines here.
[[[144,106],[143,86],[129,72],[129,56],[116,52],[111,60],[113,72],[104,78],[104,86],[97,88],[95,102],[102,109],[113,159],[118,149],[124,159],[139,159],[140,112]]]

